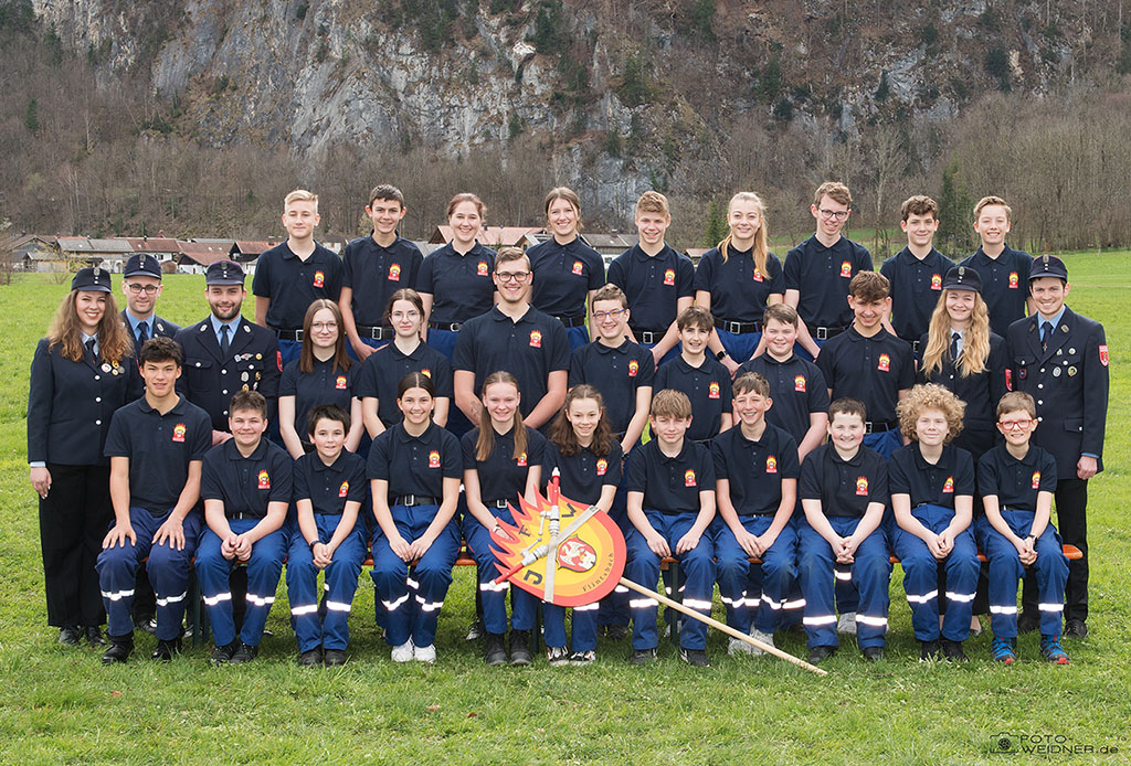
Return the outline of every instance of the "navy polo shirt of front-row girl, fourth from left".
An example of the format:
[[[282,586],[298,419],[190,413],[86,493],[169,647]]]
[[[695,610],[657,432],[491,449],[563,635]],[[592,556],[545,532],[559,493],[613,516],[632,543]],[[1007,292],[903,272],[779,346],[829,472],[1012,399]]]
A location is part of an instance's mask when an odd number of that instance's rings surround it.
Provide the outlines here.
[[[443,498],[443,480],[464,476],[459,439],[434,423],[413,436],[403,423],[373,439],[365,475],[389,482],[389,502],[403,495]]]

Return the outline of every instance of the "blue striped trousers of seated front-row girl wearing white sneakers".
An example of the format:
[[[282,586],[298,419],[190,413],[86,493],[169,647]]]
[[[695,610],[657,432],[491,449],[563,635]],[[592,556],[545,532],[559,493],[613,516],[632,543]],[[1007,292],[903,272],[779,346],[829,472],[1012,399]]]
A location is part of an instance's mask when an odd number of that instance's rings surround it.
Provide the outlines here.
[[[437,505],[394,505],[389,508],[405,542],[416,540],[435,519]],[[440,607],[451,585],[451,568],[459,555],[459,529],[449,521],[412,567],[392,552],[383,534],[373,540],[373,583],[388,610],[385,641],[400,646],[409,638],[415,646],[431,646]]]

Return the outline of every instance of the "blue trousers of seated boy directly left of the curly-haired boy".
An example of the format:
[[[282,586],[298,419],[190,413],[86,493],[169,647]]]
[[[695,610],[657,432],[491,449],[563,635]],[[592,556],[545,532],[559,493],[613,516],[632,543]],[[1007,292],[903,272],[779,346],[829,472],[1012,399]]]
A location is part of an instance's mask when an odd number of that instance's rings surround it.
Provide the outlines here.
[[[840,537],[851,537],[860,519],[829,516],[829,523]],[[797,573],[801,592],[805,597],[805,633],[809,647],[837,646],[837,615],[832,608],[834,564],[832,547],[817,531],[802,521],[797,529]],[[888,627],[888,585],[891,581],[891,562],[888,538],[883,528],[864,538],[856,548],[851,571],[860,590],[856,610],[856,644],[861,649],[883,646]]]

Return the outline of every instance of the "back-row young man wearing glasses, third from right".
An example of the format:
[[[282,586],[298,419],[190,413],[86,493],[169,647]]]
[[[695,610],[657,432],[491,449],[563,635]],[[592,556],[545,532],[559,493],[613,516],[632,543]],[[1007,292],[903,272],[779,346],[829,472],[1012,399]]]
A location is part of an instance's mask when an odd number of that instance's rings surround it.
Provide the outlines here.
[[[840,234],[852,215],[848,186],[822,183],[809,210],[817,220],[817,232],[786,253],[783,270],[785,303],[801,316],[797,341],[815,359],[821,343],[852,323],[852,311],[845,305],[848,282],[861,271],[872,270],[872,254]]]

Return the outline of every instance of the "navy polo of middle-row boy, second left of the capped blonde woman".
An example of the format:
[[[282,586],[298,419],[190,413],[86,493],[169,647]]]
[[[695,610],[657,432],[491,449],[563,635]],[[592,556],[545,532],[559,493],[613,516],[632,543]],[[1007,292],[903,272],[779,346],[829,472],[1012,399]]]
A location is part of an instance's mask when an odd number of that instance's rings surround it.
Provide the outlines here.
[[[794,354],[778,362],[767,351],[744,362],[734,378],[745,373],[758,373],[770,384],[774,406],[766,412],[766,423],[783,428],[797,444],[809,432],[809,416],[829,411],[829,386],[824,375],[809,359]]]

